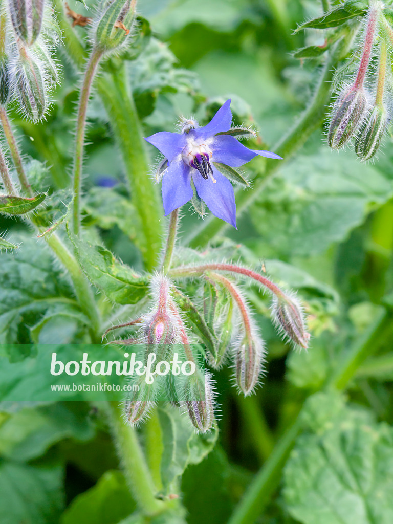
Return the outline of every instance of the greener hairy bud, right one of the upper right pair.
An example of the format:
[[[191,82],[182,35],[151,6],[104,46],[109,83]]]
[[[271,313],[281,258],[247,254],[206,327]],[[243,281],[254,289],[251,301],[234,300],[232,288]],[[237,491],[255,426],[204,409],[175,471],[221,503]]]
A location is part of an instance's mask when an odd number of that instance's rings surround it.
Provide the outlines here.
[[[369,160],[378,151],[387,127],[387,113],[382,105],[376,105],[363,123],[355,140],[356,155]]]

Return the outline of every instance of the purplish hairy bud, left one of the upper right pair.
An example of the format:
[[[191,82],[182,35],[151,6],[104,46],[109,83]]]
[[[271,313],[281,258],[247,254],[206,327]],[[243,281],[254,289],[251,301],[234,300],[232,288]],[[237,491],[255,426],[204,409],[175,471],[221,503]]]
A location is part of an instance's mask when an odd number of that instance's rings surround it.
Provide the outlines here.
[[[366,94],[362,87],[347,88],[337,98],[328,132],[332,149],[339,149],[356,133],[367,111]]]

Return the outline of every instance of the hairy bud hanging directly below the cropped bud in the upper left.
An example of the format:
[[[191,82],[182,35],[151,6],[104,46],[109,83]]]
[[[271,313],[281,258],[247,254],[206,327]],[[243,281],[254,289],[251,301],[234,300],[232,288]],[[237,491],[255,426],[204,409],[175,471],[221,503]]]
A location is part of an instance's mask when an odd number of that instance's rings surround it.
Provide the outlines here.
[[[47,109],[47,86],[39,59],[22,48],[15,64],[15,92],[27,118],[40,120]]]

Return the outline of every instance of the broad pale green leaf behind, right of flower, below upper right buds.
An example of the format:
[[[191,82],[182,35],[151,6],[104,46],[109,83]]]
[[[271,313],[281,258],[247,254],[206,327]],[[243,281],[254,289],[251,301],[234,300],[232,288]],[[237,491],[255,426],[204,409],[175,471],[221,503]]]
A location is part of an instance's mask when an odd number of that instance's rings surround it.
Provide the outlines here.
[[[309,257],[341,242],[393,195],[389,171],[328,148],[298,156],[267,183],[250,215],[264,253]]]

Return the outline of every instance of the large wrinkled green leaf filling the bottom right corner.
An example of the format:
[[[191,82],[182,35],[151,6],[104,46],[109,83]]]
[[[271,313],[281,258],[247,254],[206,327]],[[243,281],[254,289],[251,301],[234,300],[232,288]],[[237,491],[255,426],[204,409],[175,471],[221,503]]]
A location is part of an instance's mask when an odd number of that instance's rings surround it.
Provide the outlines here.
[[[390,524],[392,428],[338,394],[310,397],[303,420],[284,472],[290,515],[301,524]]]

